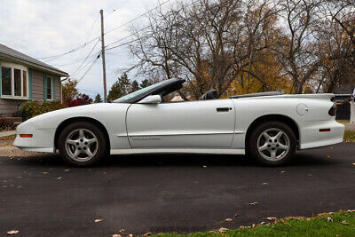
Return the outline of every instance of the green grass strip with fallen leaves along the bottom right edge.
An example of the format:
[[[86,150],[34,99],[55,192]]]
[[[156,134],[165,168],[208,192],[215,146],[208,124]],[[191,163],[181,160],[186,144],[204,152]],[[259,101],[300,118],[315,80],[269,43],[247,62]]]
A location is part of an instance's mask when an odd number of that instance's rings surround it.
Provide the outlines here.
[[[327,221],[331,218],[331,222]],[[343,222],[343,223],[342,223]],[[254,228],[242,227],[218,233],[218,230],[204,233],[159,233],[156,237],[182,236],[355,236],[355,211],[319,214],[317,217],[289,217],[269,224],[256,225]]]

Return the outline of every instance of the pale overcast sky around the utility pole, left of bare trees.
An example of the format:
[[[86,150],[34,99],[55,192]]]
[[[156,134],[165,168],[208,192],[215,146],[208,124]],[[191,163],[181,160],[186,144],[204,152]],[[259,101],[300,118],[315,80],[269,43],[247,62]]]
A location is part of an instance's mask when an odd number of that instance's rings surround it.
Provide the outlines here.
[[[71,51],[99,36],[100,9],[104,10],[105,31],[108,31],[159,4],[158,0],[0,0],[0,2],[2,10],[0,43],[36,59]],[[161,0],[161,3],[165,2],[166,0]],[[145,23],[145,18],[133,22],[138,28],[143,28]],[[107,34],[106,45],[128,36],[129,30],[130,26],[126,26]],[[40,60],[72,75],[95,43],[97,41],[58,59]],[[99,42],[94,52],[98,52],[100,46]],[[119,75],[117,69],[128,67],[132,63],[128,52],[128,47],[107,51],[107,93]],[[92,54],[93,56],[87,61],[90,62],[87,67],[98,54]],[[74,77],[80,79],[86,68],[78,71]],[[133,74],[130,75],[130,79],[134,79]],[[83,77],[78,84],[78,89],[91,97],[97,93],[103,95],[101,59],[97,60],[88,74]]]

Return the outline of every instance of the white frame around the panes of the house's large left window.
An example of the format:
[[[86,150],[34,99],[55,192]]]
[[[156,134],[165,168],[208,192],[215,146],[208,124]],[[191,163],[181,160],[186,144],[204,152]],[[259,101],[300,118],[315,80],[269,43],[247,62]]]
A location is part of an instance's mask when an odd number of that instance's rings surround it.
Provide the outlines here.
[[[29,99],[29,78],[28,78],[28,67],[25,67],[25,66],[22,66],[22,65],[19,65],[19,64],[14,64],[14,63],[8,63],[8,62],[2,62],[0,67],[10,67],[11,68],[11,72],[12,72],[12,78],[11,78],[11,84],[12,84],[12,94],[11,95],[4,95],[3,94],[3,81],[2,79],[3,78],[0,78],[1,79],[1,99]],[[0,68],[1,69],[1,68]],[[20,84],[20,91],[21,91],[21,95],[20,96],[15,96],[15,69],[18,69],[20,70],[20,76],[21,76],[21,84]],[[24,76],[23,76],[23,72],[26,72],[26,83],[27,83],[27,92],[26,92],[26,96],[23,96],[23,80],[24,80]],[[3,75],[1,75],[3,76]]]

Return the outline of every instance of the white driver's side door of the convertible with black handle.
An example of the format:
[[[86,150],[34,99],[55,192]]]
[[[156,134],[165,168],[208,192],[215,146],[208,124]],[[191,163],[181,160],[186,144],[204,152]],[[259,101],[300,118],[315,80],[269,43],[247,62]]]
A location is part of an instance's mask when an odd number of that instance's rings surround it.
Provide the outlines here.
[[[132,148],[229,148],[233,141],[232,99],[132,104],[127,132]]]

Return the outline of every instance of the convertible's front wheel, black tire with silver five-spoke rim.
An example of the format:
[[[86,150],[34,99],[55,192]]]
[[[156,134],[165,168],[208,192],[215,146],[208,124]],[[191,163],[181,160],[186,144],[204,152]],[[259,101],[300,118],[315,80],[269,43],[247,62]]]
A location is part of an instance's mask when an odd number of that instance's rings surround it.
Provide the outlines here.
[[[59,153],[71,165],[88,166],[101,161],[106,154],[104,134],[90,122],[75,122],[59,136]]]

